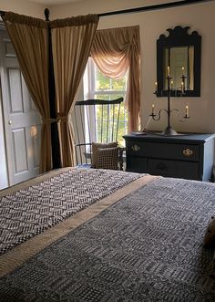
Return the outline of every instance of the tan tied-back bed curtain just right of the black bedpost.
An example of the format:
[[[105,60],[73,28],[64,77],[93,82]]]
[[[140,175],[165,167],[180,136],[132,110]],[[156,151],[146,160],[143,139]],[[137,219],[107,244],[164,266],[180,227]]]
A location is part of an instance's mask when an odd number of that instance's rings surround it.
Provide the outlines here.
[[[70,113],[87,65],[97,23],[98,17],[95,15],[50,22],[62,167],[75,165],[74,134]]]

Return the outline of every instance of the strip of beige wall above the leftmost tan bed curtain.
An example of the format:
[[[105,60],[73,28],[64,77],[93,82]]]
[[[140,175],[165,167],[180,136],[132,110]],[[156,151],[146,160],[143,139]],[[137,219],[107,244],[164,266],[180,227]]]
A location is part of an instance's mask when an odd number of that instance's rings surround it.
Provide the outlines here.
[[[0,0],[0,10],[12,11],[26,16],[44,18],[45,5],[37,5],[27,0]]]

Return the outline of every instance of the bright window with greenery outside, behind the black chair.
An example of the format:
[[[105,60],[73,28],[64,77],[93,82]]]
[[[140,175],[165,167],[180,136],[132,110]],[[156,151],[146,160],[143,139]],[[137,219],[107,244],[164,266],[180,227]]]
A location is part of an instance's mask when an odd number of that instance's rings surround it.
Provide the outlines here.
[[[84,91],[85,99],[125,99],[127,91],[127,78],[128,74],[124,78],[112,79],[104,76],[97,68],[93,59],[90,57],[87,62],[87,68],[84,75]],[[104,115],[107,112],[103,113]],[[111,112],[109,112],[111,116]],[[101,131],[99,123],[101,120],[101,110],[97,109],[96,114],[97,141],[100,141]],[[128,111],[125,109],[124,102],[121,104],[119,121],[118,121],[118,143],[120,146],[124,146],[125,141],[122,138],[124,134],[128,132]]]

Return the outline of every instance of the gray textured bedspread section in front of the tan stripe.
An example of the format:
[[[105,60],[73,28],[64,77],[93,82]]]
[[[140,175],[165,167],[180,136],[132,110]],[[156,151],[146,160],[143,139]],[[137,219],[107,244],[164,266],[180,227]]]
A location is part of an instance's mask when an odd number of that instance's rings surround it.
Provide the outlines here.
[[[0,279],[1,301],[214,301],[215,185],[160,178]]]

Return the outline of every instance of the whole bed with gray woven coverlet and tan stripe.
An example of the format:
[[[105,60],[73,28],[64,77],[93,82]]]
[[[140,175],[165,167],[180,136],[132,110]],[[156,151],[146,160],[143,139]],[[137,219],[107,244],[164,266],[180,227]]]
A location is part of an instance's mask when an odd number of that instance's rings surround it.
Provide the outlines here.
[[[0,301],[215,301],[215,185],[64,168],[0,192]]]

